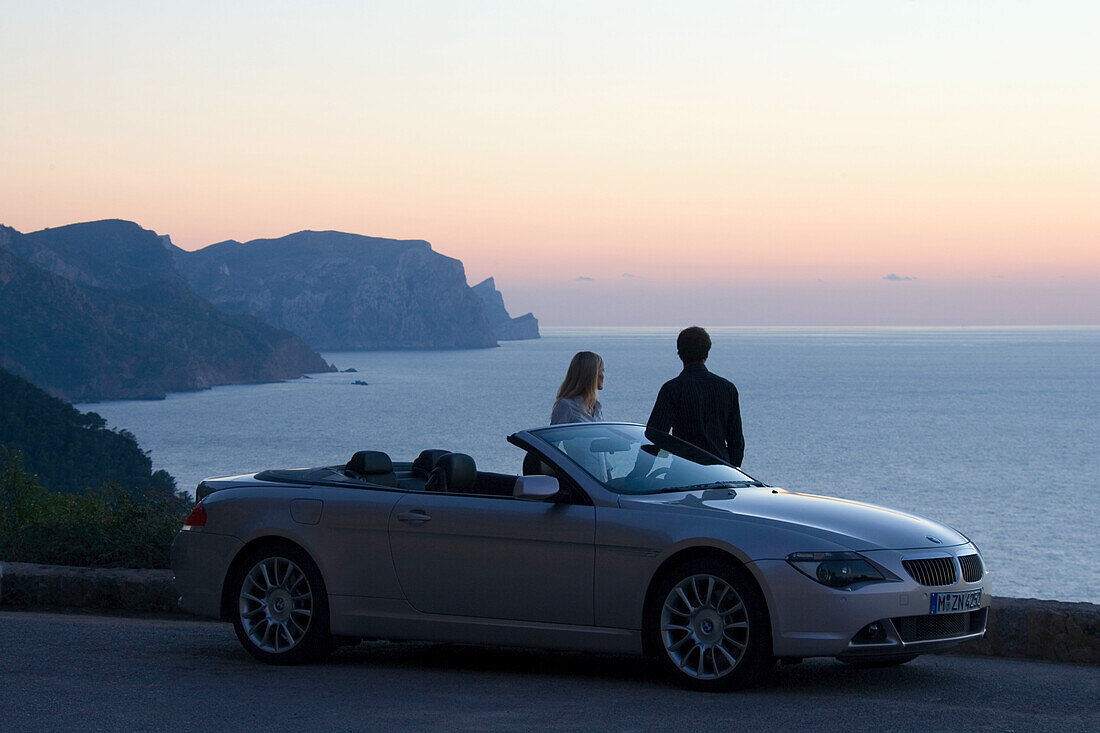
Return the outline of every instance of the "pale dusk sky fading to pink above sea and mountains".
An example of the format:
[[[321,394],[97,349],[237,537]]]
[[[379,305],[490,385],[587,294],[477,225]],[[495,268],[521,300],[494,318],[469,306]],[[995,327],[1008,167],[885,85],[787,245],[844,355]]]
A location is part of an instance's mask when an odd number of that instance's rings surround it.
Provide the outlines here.
[[[1100,324],[1092,2],[0,0],[0,223],[426,239],[544,325]]]

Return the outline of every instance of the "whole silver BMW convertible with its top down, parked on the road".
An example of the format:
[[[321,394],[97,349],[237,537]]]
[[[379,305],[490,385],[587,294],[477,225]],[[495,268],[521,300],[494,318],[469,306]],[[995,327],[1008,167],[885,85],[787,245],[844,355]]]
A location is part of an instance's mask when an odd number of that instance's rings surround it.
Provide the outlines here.
[[[172,547],[180,608],[273,664],[425,639],[652,654],[705,690],[777,658],[902,664],[986,631],[988,573],[950,527],[772,488],[641,425],[508,440],[522,475],[364,450],[202,481]]]

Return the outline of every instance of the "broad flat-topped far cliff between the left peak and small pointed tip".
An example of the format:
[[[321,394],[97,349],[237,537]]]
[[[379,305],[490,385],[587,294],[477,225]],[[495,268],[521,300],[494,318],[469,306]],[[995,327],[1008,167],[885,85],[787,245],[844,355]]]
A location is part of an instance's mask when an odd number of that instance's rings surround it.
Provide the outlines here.
[[[425,241],[301,231],[180,250],[176,261],[219,308],[294,331],[315,349],[496,346],[462,263]]]

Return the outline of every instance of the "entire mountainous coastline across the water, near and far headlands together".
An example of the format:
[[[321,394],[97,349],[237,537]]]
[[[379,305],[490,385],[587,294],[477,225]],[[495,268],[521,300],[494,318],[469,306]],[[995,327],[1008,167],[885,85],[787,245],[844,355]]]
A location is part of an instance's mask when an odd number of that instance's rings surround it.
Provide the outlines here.
[[[70,400],[331,369],[310,348],[539,338],[535,316],[512,318],[492,277],[471,288],[460,261],[421,240],[301,231],[188,252],[108,219],[0,227],[0,366]]]

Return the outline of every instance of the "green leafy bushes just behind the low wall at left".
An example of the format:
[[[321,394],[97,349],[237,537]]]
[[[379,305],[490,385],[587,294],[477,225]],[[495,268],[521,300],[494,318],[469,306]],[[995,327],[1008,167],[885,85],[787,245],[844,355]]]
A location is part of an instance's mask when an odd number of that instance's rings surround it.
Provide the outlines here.
[[[0,450],[0,559],[91,568],[167,568],[186,494],[107,483],[86,494],[38,485],[18,451]]]

